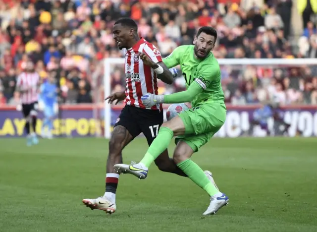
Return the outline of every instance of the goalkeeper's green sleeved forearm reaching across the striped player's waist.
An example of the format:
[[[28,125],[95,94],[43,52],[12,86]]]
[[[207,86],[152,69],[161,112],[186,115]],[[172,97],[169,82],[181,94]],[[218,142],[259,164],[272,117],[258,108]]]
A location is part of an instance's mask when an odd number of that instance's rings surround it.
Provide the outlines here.
[[[193,81],[186,91],[165,95],[164,103],[191,102],[201,92],[203,92],[202,86],[200,86],[196,81]]]

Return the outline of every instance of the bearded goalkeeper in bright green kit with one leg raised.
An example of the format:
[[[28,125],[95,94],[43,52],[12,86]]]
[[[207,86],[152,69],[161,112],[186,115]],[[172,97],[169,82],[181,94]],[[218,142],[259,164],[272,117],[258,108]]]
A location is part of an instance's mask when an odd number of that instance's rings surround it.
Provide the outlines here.
[[[167,68],[181,65],[187,90],[170,95],[147,93],[142,97],[143,104],[152,107],[159,103],[191,102],[192,108],[162,124],[158,136],[140,163],[114,166],[118,173],[129,173],[144,179],[148,175],[150,165],[168,147],[173,136],[177,136],[173,160],[211,197],[204,215],[215,214],[229,201],[229,198],[212,184],[204,171],[190,159],[220,129],[226,118],[220,67],[211,53],[216,39],[215,29],[202,27],[194,38],[194,45],[180,46],[163,59]],[[151,62],[146,56],[141,58],[145,63]]]

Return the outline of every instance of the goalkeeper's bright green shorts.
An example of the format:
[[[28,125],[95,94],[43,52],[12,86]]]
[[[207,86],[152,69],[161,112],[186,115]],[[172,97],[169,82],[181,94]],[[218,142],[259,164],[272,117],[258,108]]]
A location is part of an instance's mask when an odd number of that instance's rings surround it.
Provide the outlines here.
[[[186,142],[194,152],[206,144],[221,128],[226,119],[223,103],[202,104],[179,114],[185,125],[185,134],[175,138]]]

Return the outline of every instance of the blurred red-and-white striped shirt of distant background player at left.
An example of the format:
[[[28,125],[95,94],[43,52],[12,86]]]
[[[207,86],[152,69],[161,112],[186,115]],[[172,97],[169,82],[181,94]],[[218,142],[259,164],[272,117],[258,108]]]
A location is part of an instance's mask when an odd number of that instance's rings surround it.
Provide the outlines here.
[[[16,82],[16,86],[22,90],[31,87],[26,92],[21,93],[21,102],[22,104],[32,104],[38,101],[38,85],[40,82],[40,76],[36,72],[22,72]]]

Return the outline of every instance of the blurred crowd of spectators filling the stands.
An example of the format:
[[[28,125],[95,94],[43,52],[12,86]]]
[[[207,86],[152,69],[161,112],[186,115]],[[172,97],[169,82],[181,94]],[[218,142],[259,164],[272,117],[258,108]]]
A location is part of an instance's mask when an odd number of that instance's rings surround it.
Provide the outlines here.
[[[0,105],[17,104],[16,76],[26,61],[43,81],[50,75],[60,103],[101,102],[104,58],[121,58],[113,22],[131,17],[139,35],[162,56],[191,44],[201,26],[217,29],[216,58],[317,58],[317,1],[298,0],[303,33],[294,41],[292,0],[0,0]],[[317,104],[317,66],[221,66],[226,102]],[[113,65],[111,90],[124,89]],[[160,93],[184,90],[179,75]]]

